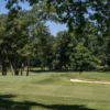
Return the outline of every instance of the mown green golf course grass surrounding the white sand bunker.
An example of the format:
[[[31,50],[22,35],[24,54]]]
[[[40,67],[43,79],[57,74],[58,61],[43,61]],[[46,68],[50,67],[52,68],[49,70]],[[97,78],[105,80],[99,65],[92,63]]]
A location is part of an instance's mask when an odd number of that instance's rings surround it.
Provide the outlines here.
[[[110,85],[72,82],[68,78],[109,81],[110,74],[9,73],[0,76],[0,110],[110,110]]]

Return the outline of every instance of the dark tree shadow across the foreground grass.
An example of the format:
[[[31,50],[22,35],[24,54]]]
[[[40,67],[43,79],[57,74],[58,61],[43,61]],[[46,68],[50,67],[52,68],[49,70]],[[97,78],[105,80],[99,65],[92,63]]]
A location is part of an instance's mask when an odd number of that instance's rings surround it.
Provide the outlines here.
[[[47,109],[47,110],[95,110],[89,109],[85,107],[84,105],[44,105],[44,103],[37,103],[37,102],[31,102],[31,101],[13,101],[12,98],[16,96],[13,95],[1,95],[0,96],[0,110],[31,110],[31,108],[34,106],[37,110],[37,108],[41,108],[41,110]]]

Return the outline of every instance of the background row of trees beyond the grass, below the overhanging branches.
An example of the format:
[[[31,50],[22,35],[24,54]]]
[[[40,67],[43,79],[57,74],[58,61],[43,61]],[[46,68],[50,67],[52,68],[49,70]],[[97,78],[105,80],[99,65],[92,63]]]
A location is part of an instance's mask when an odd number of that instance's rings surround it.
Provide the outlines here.
[[[6,14],[0,15],[2,75],[7,75],[9,65],[12,74],[14,70],[14,75],[18,75],[18,70],[21,69],[22,75],[22,64],[25,62],[28,64],[26,76],[29,76],[31,63],[40,66],[42,70],[46,66],[50,70],[73,68],[81,74],[84,70],[95,69],[97,65],[102,64],[103,54],[109,65],[109,51],[107,50],[109,41],[102,37],[103,33],[98,31],[94,22],[87,22],[81,34],[76,32],[77,25],[73,25],[73,32],[62,31],[54,37],[45,25],[45,19],[41,21],[38,18],[41,12],[34,13],[34,10],[20,11],[13,20]],[[57,19],[54,21],[57,22]]]

